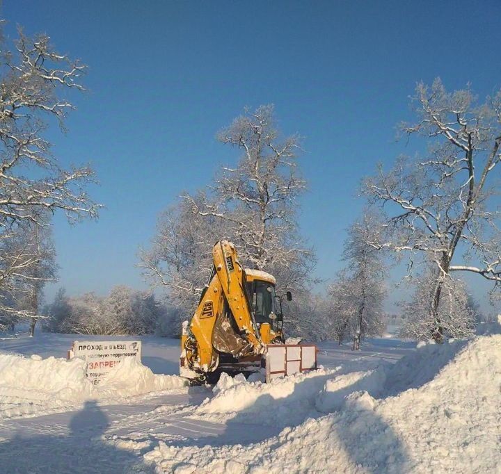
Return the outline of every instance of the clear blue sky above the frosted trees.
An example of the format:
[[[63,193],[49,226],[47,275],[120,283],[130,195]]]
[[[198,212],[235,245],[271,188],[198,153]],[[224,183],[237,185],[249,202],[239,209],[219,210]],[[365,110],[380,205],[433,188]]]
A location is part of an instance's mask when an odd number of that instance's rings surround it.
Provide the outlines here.
[[[269,103],[303,136],[301,229],[317,276],[333,277],[360,178],[414,146],[395,142],[395,126],[412,117],[415,83],[470,82],[481,97],[501,86],[500,13],[463,0],[4,0],[11,38],[16,24],[46,32],[89,66],[68,133],[49,138],[63,163],[93,163],[106,209],[76,227],[55,219],[58,286],[145,288],[134,265],[158,213],[235,161],[216,132]]]

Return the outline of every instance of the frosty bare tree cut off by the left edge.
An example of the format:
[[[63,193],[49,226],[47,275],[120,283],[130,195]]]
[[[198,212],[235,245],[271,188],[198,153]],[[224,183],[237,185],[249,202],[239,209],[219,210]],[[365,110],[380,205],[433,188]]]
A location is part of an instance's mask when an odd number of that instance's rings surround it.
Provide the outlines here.
[[[8,51],[3,38],[1,43],[0,290],[13,294],[13,286],[22,279],[39,278],[35,269],[40,269],[40,256],[33,254],[29,239],[24,239],[26,247],[22,244],[26,229],[38,232],[47,223],[47,213],[56,209],[75,222],[85,216],[95,218],[100,206],[84,191],[84,185],[93,181],[93,170],[63,169],[44,138],[49,117],[64,129],[65,116],[73,107],[62,96],[66,97],[65,90],[83,90],[79,81],[84,65],[54,51],[47,35],[31,40],[19,30],[14,51]],[[3,311],[17,310],[4,306]],[[33,316],[33,311],[29,314]]]

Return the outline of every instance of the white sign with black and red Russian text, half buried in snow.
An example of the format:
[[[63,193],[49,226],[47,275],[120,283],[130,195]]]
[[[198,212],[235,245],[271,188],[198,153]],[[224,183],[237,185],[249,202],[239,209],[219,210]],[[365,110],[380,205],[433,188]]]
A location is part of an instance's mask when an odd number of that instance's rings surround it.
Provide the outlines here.
[[[97,385],[126,357],[141,362],[141,341],[74,341],[68,351],[68,359],[72,357],[87,362],[87,378]]]

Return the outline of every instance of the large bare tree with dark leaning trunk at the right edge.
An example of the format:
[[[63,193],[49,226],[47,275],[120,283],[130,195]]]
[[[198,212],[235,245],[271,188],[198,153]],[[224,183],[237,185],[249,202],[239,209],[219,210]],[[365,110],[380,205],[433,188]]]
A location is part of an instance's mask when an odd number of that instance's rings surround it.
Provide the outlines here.
[[[401,129],[427,138],[429,155],[401,157],[390,172],[379,166],[363,193],[384,207],[388,223],[387,238],[373,245],[407,252],[410,268],[417,261],[434,264],[428,314],[430,336],[441,341],[438,308],[451,272],[501,283],[498,211],[491,199],[491,174],[501,159],[501,92],[479,104],[469,88],[447,92],[436,79],[431,87],[417,85],[415,102],[417,122]]]

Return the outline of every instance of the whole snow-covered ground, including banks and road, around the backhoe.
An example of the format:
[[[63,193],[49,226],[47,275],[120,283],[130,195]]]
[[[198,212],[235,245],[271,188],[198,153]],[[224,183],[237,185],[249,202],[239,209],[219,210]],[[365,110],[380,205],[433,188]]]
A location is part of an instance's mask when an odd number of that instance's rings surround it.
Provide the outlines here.
[[[1,472],[499,472],[499,334],[321,343],[315,373],[215,387],[186,386],[179,341],[154,337],[145,366],[90,386],[84,363],[61,359],[74,339],[0,341]]]

